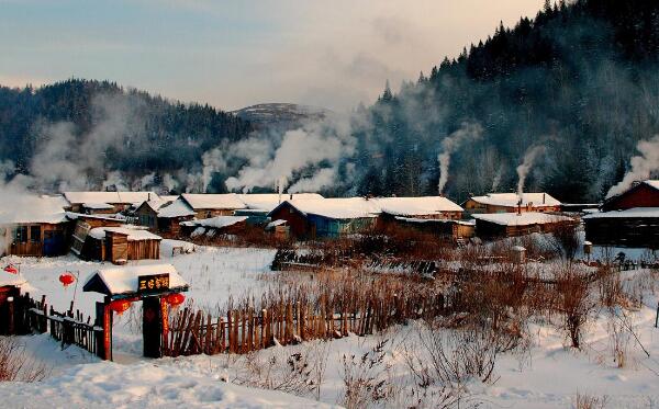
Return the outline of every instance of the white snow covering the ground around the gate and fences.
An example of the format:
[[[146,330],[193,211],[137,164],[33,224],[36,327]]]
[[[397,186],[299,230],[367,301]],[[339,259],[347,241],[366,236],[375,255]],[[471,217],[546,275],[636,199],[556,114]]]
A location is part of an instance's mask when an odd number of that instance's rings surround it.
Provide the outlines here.
[[[273,250],[198,247],[192,253],[171,257],[171,247],[179,245],[165,241],[161,260],[139,264],[172,263],[189,281],[191,288],[187,296],[194,299],[198,307],[221,307],[230,295],[258,295],[268,285],[268,281],[260,279],[269,274]],[[2,265],[9,262],[20,263],[21,273],[35,287],[32,293],[47,294],[48,303],[59,310],[68,308],[74,294],[74,286],[63,288],[57,280],[59,274],[79,273],[83,283],[89,274],[103,266],[74,257],[5,258]],[[648,276],[643,270],[624,274],[629,282]],[[99,299],[100,295],[81,293],[78,288],[76,308],[86,315],[92,314],[93,303]],[[607,408],[657,407],[659,329],[654,327],[656,309],[657,297],[646,288],[641,308],[630,314],[635,337],[628,337],[623,368],[613,362],[610,326],[616,318],[608,313],[600,311],[588,323],[581,351],[567,348],[566,333],[557,329],[556,323],[535,322],[529,329],[528,351],[500,355],[492,382],[472,380],[463,385],[460,407],[480,404],[493,408],[566,408],[573,407],[578,394],[604,399]],[[382,341],[386,341],[383,362],[376,365],[373,377],[389,385],[390,397],[378,401],[376,407],[414,404],[404,393],[404,388],[414,383],[405,356],[410,349],[421,351],[417,337],[424,330],[417,322],[367,338],[350,336],[331,342],[275,346],[252,356],[147,360],[141,356],[142,338],[131,323],[131,314],[138,317],[137,307],[115,321],[116,362],[113,363],[101,362],[76,346],[62,351],[47,334],[20,337],[29,353],[52,370],[41,383],[0,383],[2,407],[331,407],[344,401],[344,356],[355,355],[358,361],[362,354],[372,353]],[[282,383],[290,373],[287,361],[294,353],[306,356],[313,368],[303,379],[304,385]],[[418,353],[423,356],[423,352]],[[315,386],[319,379],[320,388]]]

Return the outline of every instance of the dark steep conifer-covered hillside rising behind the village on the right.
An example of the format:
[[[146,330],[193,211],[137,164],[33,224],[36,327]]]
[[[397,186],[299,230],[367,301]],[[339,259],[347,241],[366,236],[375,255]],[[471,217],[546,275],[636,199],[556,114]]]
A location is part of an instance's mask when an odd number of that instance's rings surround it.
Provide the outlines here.
[[[658,52],[659,2],[547,2],[535,20],[383,92],[359,135],[360,192],[436,193],[443,140],[471,124],[478,135],[453,147],[450,196],[515,189],[515,168],[540,145],[527,186],[601,200],[637,143],[659,132]]]

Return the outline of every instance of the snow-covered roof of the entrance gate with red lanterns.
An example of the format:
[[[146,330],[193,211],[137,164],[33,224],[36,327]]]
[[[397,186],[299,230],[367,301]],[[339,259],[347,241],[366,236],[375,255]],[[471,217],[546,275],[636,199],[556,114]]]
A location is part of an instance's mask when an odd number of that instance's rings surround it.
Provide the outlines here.
[[[102,294],[121,295],[137,293],[141,275],[169,274],[169,288],[187,289],[188,283],[171,264],[130,265],[102,269],[92,274],[85,283],[83,291],[100,292],[96,284],[104,285]]]

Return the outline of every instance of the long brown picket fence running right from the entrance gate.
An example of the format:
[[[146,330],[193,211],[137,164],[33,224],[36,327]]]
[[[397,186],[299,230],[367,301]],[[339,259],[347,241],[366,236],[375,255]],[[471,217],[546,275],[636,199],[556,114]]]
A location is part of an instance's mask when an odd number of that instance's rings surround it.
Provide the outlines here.
[[[269,308],[232,308],[220,318],[186,307],[170,315],[164,354],[247,353],[276,343],[294,344],[348,333],[365,336],[407,319],[436,317],[446,311],[443,294],[412,292],[359,297],[347,303],[327,295],[317,303],[291,297]]]

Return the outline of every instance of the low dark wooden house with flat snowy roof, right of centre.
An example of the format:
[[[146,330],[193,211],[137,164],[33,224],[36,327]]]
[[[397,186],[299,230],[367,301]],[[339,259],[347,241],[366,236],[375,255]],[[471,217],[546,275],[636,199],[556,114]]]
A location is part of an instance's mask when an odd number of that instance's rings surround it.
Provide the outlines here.
[[[550,232],[560,226],[578,224],[570,217],[538,212],[474,214],[473,218],[476,235],[485,239]]]

